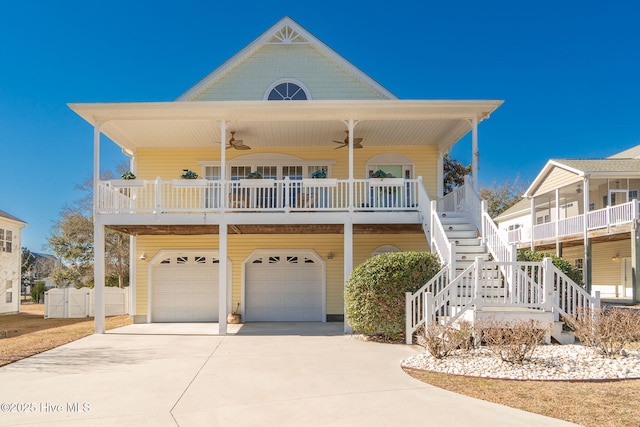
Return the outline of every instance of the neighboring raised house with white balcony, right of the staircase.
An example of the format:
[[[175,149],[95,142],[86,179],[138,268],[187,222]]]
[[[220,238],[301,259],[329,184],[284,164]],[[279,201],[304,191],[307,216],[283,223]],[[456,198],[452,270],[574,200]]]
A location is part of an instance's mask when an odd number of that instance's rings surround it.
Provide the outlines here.
[[[638,302],[638,190],[640,145],[605,159],[553,159],[495,220],[519,248],[555,252],[582,269],[592,294]]]

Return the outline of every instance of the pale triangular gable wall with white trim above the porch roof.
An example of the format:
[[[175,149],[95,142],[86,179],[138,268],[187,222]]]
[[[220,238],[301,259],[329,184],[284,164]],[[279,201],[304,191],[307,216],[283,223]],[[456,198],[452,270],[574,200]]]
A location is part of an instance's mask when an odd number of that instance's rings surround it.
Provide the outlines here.
[[[397,99],[285,17],[177,101],[261,100],[279,81],[299,83],[315,100]]]

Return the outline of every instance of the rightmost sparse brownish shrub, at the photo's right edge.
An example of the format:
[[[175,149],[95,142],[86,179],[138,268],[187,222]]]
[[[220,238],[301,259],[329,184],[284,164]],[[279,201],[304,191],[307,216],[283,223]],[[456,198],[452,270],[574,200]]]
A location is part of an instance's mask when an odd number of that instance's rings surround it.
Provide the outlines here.
[[[582,345],[605,357],[617,357],[629,343],[640,340],[640,312],[634,310],[585,309],[564,320]]]

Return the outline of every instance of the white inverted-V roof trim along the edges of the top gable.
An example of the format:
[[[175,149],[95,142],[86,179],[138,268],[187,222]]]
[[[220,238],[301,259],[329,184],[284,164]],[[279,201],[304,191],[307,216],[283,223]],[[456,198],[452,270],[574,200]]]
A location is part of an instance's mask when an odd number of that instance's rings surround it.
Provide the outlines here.
[[[240,52],[236,53],[229,60],[227,60],[220,67],[215,69],[211,74],[202,79],[199,83],[189,89],[187,92],[182,94],[176,101],[192,101],[195,97],[200,95],[206,89],[208,89],[213,83],[219,80],[222,76],[224,76],[227,72],[229,72],[232,68],[234,68],[239,62],[241,62],[245,57],[253,54],[255,50],[257,50],[261,45],[264,44],[273,44],[273,42],[269,42],[274,36],[277,36],[281,31],[285,28],[289,27],[291,30],[298,33],[301,37],[306,39],[305,44],[311,44],[315,46],[320,52],[322,52],[325,56],[329,57],[331,60],[335,61],[337,64],[346,69],[349,73],[353,74],[359,80],[365,82],[370,85],[374,90],[378,91],[383,96],[389,99],[398,99],[394,94],[385,89],[380,83],[373,80],[371,77],[363,73],[359,68],[355,65],[344,59],[340,56],[336,51],[331,49],[326,44],[322,43],[319,39],[309,33],[307,30],[302,28],[297,22],[293,19],[285,16],[280,21],[278,21],[274,26],[269,28],[265,33],[263,33],[260,37],[258,37],[255,41],[249,44],[247,47],[242,49]],[[287,38],[284,39],[283,43],[286,43]],[[292,43],[291,40],[288,43]]]

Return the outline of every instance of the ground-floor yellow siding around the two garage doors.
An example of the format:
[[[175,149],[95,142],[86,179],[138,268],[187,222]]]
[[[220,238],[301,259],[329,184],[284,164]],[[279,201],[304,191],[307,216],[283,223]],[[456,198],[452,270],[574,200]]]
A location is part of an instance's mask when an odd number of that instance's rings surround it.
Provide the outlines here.
[[[421,234],[354,235],[354,266],[362,263],[382,245],[393,245],[402,251],[426,251],[427,243]],[[136,313],[147,313],[148,277],[150,261],[162,249],[218,249],[218,236],[138,236],[136,270]],[[344,241],[342,234],[309,235],[229,235],[229,259],[232,263],[233,307],[242,299],[243,263],[255,249],[313,249],[326,262],[327,314],[342,314],[344,310]],[[147,259],[140,261],[146,253]],[[333,254],[329,259],[328,254]]]

